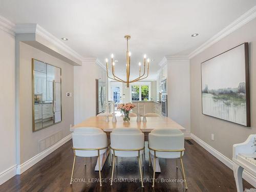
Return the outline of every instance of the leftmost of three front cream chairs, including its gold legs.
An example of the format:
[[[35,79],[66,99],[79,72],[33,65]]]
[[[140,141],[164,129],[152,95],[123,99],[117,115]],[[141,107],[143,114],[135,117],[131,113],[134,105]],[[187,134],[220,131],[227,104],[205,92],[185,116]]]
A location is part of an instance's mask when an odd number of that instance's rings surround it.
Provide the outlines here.
[[[73,151],[74,151],[74,163],[72,168],[72,175],[70,184],[72,185],[73,173],[75,167],[76,156],[78,157],[95,157],[98,156],[98,167],[99,167],[99,179],[101,184],[101,164],[100,155],[106,153],[108,145],[108,138],[106,133],[96,127],[79,127],[74,130],[72,134],[73,139]],[[101,161],[101,162],[100,162]],[[86,159],[85,159],[86,162]],[[86,165],[86,163],[85,163]]]

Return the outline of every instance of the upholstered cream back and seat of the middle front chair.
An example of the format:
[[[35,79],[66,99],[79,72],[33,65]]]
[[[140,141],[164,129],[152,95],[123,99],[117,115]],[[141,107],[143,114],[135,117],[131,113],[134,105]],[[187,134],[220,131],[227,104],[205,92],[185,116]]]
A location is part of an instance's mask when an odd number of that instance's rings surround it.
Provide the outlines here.
[[[110,138],[113,148],[136,150],[144,147],[144,134],[137,128],[116,128],[110,134]],[[140,151],[140,154],[143,154],[143,150]],[[115,151],[115,155],[118,157],[138,157],[138,151]]]

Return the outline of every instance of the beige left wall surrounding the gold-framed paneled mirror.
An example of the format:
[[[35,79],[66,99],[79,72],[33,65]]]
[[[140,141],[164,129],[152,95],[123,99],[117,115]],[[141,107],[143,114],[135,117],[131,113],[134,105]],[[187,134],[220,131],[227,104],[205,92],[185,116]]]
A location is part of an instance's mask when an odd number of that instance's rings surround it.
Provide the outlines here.
[[[74,124],[74,99],[66,97],[73,93],[73,66],[45,52],[20,42],[20,163],[38,154],[38,141],[62,131],[62,137],[70,134],[70,124]],[[32,132],[32,71],[31,59],[35,58],[61,68],[62,121],[37,132]]]

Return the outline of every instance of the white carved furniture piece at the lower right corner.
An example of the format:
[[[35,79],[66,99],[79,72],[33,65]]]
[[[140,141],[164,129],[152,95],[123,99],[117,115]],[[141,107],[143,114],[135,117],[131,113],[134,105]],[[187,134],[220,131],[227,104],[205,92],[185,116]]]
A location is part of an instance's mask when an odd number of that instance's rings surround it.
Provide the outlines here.
[[[243,170],[256,177],[256,134],[249,135],[245,142],[233,145],[233,172],[238,192],[243,191]],[[254,186],[255,187],[255,186]]]

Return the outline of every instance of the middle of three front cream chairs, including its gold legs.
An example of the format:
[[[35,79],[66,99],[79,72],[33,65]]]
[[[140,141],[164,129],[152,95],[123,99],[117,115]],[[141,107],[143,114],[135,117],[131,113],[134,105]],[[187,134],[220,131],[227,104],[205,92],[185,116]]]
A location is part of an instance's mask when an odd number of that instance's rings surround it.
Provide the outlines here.
[[[143,186],[140,156],[144,153],[144,134],[137,128],[117,128],[110,134],[111,154],[114,155],[111,185],[113,184],[113,174],[115,160],[117,157],[137,157],[139,161],[141,186]],[[131,142],[132,141],[132,142]]]

